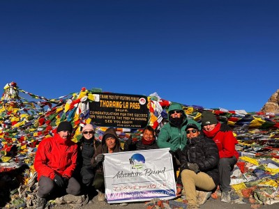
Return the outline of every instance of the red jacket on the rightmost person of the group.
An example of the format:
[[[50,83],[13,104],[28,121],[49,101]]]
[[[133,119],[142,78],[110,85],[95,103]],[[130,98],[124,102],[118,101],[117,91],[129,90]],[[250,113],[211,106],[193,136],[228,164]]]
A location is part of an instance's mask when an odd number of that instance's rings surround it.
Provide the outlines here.
[[[235,145],[239,144],[239,142],[232,134],[232,131],[228,130],[227,126],[225,123],[217,123],[211,132],[206,132],[206,130],[202,130],[202,132],[216,143],[220,158],[235,156],[236,159],[239,159],[239,153],[235,149]]]

